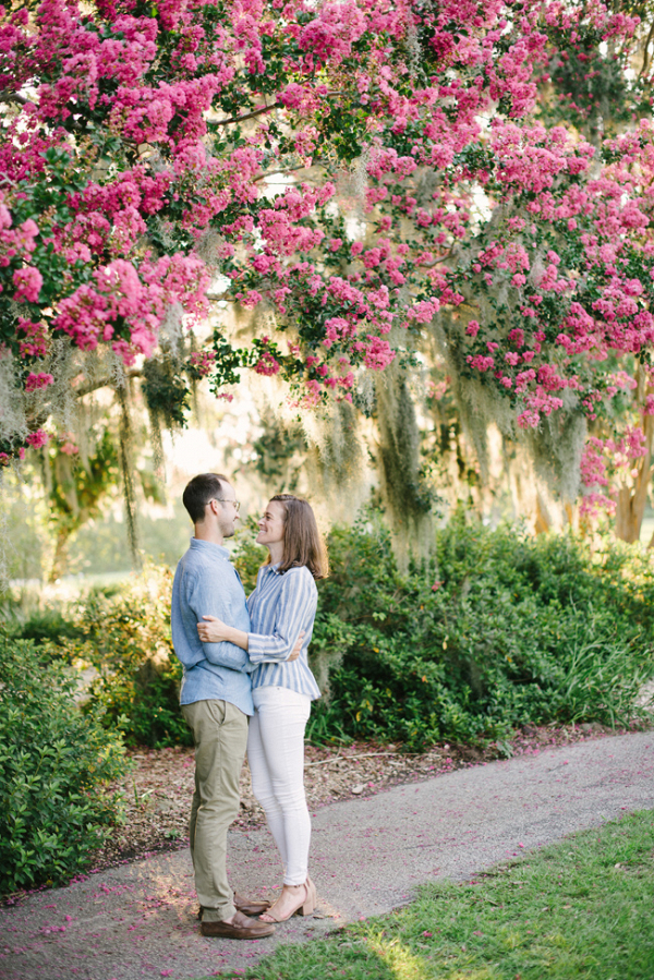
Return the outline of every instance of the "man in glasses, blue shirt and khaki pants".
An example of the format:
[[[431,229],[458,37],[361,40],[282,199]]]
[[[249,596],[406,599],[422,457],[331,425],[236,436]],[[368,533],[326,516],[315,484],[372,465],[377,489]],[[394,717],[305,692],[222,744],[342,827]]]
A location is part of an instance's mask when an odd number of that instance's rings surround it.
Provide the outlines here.
[[[182,714],[195,741],[195,793],[191,809],[191,856],[202,907],[203,935],[261,939],[275,927],[250,916],[268,903],[239,902],[227,881],[227,831],[239,812],[239,778],[254,713],[247,654],[232,643],[202,643],[204,615],[250,631],[245,593],[226,537],[234,533],[239,504],[226,476],[195,476],[183,495],[195,536],[172,585],[174,651],[184,666]]]

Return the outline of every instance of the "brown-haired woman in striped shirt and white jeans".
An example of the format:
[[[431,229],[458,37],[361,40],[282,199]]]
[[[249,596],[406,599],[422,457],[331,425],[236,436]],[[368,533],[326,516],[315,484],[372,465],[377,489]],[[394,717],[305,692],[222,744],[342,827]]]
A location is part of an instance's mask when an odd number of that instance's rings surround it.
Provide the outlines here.
[[[201,640],[227,640],[257,664],[252,675],[255,713],[247,735],[254,795],[266,812],[284,868],[281,895],[261,918],[286,922],[295,912],[311,915],[316,904],[308,876],[311,819],[304,795],[304,729],[311,702],[320,697],[307,663],[318,591],[327,574],[327,553],[314,512],[292,494],[272,497],[259,521],[258,544],[269,555],[247,600],[252,632],[226,626],[213,616],[198,624]],[[289,657],[304,632],[296,660]]]

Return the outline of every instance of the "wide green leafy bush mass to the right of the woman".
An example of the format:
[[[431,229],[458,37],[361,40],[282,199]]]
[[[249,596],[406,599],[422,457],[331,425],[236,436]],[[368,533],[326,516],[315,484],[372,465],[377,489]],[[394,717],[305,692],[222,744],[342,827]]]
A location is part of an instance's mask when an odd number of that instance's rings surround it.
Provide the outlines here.
[[[654,568],[637,548],[593,555],[571,534],[532,539],[462,515],[407,574],[383,529],[336,529],[329,545],[315,642],[335,616],[349,638],[314,738],[420,748],[528,723],[615,724],[654,673]]]

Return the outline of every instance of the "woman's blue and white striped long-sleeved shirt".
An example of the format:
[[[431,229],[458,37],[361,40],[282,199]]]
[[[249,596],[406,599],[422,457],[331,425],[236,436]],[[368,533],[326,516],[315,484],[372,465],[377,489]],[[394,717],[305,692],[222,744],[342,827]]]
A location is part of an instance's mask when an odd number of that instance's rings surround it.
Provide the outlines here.
[[[277,565],[264,565],[259,569],[256,589],[247,600],[253,630],[247,634],[247,655],[258,665],[252,675],[252,688],[289,688],[308,694],[314,701],[320,697],[320,689],[310,670],[306,653],[316,618],[318,590],[306,566],[289,568],[283,574],[277,568]],[[286,658],[301,630],[304,639],[300,656],[288,663]]]

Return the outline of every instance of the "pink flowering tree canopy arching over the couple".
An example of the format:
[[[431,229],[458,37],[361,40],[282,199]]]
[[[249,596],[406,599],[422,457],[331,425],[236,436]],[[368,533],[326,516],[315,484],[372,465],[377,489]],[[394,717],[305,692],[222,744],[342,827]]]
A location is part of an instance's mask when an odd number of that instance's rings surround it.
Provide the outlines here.
[[[654,340],[649,44],[595,0],[2,10],[0,459],[65,386],[142,377],[181,415],[250,368],[356,403],[435,331],[461,410],[548,433],[559,470],[574,431],[578,474]],[[234,347],[217,300],[274,326]]]

